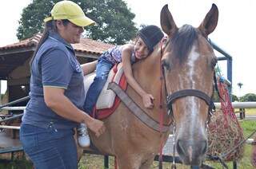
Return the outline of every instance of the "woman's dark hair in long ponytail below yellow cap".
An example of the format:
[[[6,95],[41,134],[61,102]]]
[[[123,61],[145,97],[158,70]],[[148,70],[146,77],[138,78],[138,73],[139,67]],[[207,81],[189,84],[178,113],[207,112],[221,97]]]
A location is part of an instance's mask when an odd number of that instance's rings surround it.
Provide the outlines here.
[[[67,19],[62,19],[62,23],[64,26],[66,26],[69,22],[70,21]],[[38,53],[38,49],[49,37],[50,32],[58,33],[58,29],[57,29],[55,20],[51,20],[51,21],[45,23],[45,29],[43,30],[42,37],[41,37],[40,41],[38,42],[36,49],[34,50],[33,57],[30,60],[30,67],[32,65],[32,62],[34,61],[34,57]]]

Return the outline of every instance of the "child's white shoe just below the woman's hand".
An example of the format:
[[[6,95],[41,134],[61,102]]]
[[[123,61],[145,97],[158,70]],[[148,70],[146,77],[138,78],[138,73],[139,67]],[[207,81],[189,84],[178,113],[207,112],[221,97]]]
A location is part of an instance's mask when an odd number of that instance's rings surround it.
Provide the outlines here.
[[[90,137],[87,132],[86,124],[80,124],[78,126],[78,144],[81,147],[90,146]]]

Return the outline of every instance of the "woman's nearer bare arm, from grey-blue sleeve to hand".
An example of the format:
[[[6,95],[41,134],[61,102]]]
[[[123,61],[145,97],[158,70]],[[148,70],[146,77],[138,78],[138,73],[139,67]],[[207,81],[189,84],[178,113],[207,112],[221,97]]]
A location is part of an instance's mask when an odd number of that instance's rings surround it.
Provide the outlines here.
[[[78,123],[85,123],[96,136],[105,131],[102,121],[95,120],[77,108],[65,95],[64,88],[43,87],[44,100],[47,107],[52,109],[59,116]]]

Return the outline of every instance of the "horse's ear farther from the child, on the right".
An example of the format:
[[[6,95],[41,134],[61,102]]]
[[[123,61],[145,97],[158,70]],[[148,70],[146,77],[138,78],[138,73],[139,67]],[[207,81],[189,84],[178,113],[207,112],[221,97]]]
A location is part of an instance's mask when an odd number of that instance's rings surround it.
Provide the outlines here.
[[[218,24],[218,7],[213,3],[210,8],[208,14],[206,14],[206,18],[202,21],[201,25],[198,29],[202,32],[202,34],[207,37],[210,33],[214,31]]]

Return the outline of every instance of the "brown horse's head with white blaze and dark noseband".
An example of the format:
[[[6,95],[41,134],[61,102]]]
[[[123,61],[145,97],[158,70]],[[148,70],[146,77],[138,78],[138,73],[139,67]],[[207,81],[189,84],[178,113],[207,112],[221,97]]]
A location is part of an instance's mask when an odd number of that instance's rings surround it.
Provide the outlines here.
[[[162,51],[167,102],[175,124],[176,150],[185,164],[201,164],[207,150],[206,125],[217,62],[207,36],[217,23],[218,8],[214,4],[198,28],[178,28],[168,6],[161,11],[161,26],[168,35]]]

